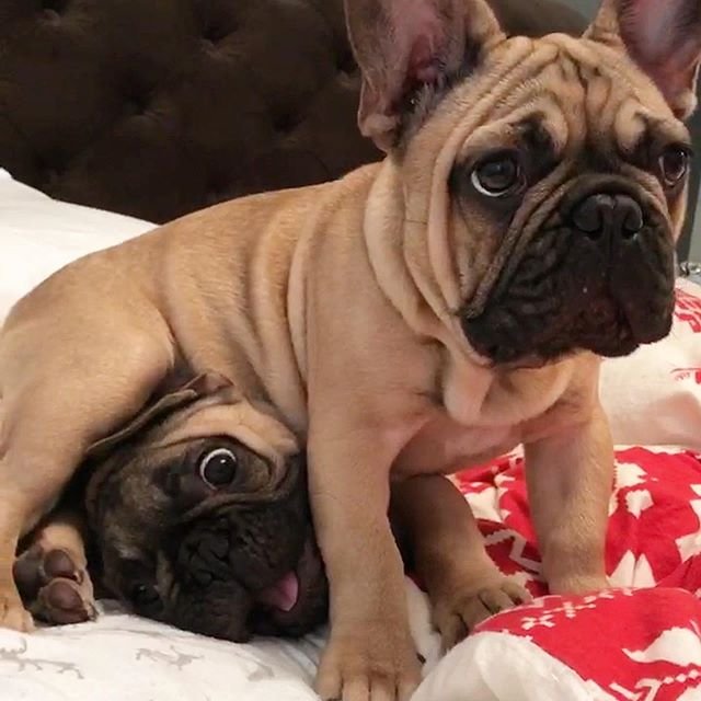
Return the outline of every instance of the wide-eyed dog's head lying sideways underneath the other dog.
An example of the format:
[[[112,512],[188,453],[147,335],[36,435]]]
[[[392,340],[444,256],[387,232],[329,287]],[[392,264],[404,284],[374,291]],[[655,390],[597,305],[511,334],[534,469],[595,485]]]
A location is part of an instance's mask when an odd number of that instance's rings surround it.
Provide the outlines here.
[[[104,585],[137,613],[231,641],[324,620],[303,455],[223,378],[162,397],[84,474]]]

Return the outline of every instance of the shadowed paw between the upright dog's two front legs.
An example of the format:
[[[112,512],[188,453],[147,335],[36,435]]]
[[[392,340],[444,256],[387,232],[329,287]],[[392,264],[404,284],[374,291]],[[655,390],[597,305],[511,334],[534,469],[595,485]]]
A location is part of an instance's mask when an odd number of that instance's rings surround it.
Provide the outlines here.
[[[444,650],[462,641],[472,629],[495,613],[519,604],[528,604],[531,595],[508,577],[471,582],[464,588],[433,602],[434,625],[438,629]]]

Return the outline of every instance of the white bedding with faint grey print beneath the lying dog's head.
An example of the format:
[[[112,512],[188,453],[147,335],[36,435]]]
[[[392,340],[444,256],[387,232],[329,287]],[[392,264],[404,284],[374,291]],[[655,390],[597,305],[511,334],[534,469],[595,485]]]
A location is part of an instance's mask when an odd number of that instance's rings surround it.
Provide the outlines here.
[[[318,642],[233,645],[101,606],[95,623],[0,632],[3,701],[308,701]]]

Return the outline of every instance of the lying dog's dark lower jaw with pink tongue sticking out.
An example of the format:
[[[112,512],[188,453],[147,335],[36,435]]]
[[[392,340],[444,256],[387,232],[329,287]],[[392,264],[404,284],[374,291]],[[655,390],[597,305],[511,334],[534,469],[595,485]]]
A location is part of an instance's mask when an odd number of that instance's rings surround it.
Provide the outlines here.
[[[326,620],[329,584],[319,549],[309,538],[294,570],[253,595],[248,627],[256,635],[299,637]]]

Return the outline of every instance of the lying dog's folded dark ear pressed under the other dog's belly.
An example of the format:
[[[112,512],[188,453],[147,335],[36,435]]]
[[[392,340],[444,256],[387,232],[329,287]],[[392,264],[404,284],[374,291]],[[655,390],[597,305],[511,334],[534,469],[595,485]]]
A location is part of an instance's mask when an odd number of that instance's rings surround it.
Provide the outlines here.
[[[119,428],[119,430],[92,444],[92,446],[88,448],[85,457],[94,459],[103,456],[116,445],[138,434],[157,420],[162,420],[168,414],[228,387],[232,387],[232,382],[223,375],[214,371],[203,372],[189,380],[186,384],[160,397],[156,402],[147,404],[128,424]]]

